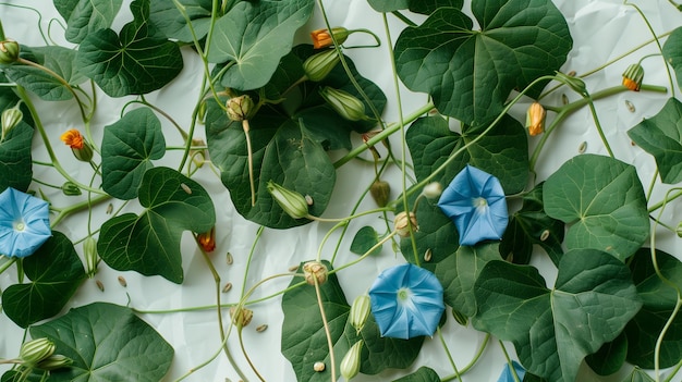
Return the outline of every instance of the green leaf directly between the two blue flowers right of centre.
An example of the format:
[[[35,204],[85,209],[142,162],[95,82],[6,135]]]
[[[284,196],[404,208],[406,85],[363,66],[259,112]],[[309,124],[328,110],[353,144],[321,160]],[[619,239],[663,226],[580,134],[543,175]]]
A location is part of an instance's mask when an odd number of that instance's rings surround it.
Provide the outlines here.
[[[454,223],[437,205],[423,200],[417,207],[419,230],[414,233],[419,266],[434,272],[443,286],[443,300],[454,310],[472,317],[476,313],[474,282],[484,266],[499,260],[498,243],[460,247]],[[415,263],[410,238],[400,242],[405,260]],[[426,261],[425,255],[431,259]]]

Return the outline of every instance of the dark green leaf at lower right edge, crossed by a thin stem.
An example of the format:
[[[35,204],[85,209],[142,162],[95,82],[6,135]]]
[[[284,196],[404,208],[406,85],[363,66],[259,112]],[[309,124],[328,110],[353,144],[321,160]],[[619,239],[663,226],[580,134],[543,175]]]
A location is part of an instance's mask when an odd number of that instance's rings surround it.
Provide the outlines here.
[[[661,274],[682,291],[682,262],[661,250],[656,250],[656,262]],[[644,307],[628,323],[628,361],[645,369],[654,369],[656,342],[672,315],[678,291],[663,282],[651,262],[649,248],[637,250],[630,263],[632,279]],[[660,344],[659,367],[674,366],[682,359],[682,313],[678,312]]]

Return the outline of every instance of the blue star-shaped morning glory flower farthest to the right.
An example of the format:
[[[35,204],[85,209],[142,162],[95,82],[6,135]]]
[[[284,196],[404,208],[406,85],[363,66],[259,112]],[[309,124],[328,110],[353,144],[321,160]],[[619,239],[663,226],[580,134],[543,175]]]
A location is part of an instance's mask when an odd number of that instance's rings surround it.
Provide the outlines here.
[[[500,181],[468,164],[443,190],[438,207],[454,221],[460,245],[500,239],[509,221]]]

